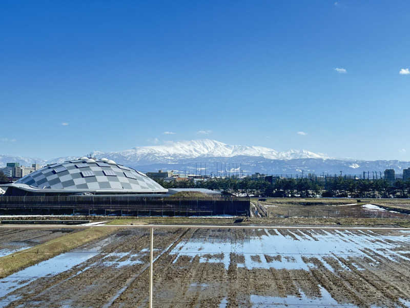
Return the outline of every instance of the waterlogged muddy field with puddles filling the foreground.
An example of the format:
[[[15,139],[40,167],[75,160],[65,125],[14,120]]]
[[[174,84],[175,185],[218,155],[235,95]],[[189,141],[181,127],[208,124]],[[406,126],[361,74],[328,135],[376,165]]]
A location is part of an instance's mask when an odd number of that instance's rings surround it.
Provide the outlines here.
[[[0,279],[0,307],[147,307],[148,248],[116,231]],[[160,229],[154,306],[407,307],[409,248],[406,230]]]

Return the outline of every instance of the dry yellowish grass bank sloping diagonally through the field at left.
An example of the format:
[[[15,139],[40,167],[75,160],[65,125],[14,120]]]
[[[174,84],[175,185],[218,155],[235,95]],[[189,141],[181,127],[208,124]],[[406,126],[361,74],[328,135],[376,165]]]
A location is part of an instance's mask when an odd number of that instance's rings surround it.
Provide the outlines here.
[[[48,260],[61,253],[68,252],[83,244],[108,236],[113,230],[113,228],[89,228],[2,257],[0,258],[0,278],[4,278],[38,262]]]

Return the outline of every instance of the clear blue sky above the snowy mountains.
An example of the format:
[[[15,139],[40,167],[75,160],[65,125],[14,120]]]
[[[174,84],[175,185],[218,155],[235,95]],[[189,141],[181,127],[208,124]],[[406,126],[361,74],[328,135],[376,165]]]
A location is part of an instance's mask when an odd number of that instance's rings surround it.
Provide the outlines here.
[[[409,11],[408,1],[2,1],[0,153],[210,138],[410,160]]]

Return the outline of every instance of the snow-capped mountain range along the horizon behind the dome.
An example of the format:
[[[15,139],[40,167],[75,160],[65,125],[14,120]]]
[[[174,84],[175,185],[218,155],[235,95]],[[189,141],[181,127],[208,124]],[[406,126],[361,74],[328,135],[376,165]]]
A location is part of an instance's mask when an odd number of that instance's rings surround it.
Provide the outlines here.
[[[25,166],[35,162],[45,165],[74,160],[84,155],[85,153],[78,153],[76,157],[59,157],[51,160],[0,155],[0,167],[5,166],[7,162],[19,162]],[[242,170],[265,173],[295,173],[304,170],[306,173],[339,174],[343,171],[345,174],[360,174],[363,171],[383,171],[386,168],[394,168],[400,172],[401,169],[410,167],[410,162],[334,159],[307,150],[279,152],[267,147],[228,145],[209,139],[139,146],[124,151],[94,151],[92,155],[96,158],[105,157],[142,171],[192,170],[196,168],[196,163],[209,164],[208,170],[217,163],[238,163],[242,164]]]

